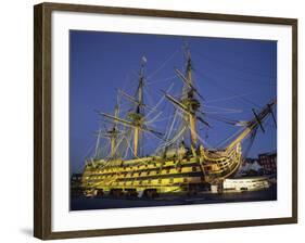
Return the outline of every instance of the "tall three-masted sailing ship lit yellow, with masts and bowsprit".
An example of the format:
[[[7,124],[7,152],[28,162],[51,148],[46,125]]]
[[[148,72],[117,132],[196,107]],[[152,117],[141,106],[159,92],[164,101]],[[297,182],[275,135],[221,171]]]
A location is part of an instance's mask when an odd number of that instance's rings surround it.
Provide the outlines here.
[[[94,155],[86,161],[81,179],[85,194],[155,197],[163,193],[195,194],[211,186],[220,188],[242,163],[242,141],[253,140],[258,128],[264,131],[263,124],[268,116],[276,123],[272,112],[276,100],[259,111],[252,108],[253,117],[247,122],[224,118],[224,122],[242,129],[226,140],[225,148],[208,148],[198,129],[198,124],[211,125],[201,108],[204,99],[193,81],[189,48],[185,49],[185,71],[175,68],[182,84],[180,94],[162,91],[164,102],[170,103],[174,111],[165,132],[152,127],[148,118],[157,111],[161,101],[155,106],[144,102],[145,65],[147,60],[142,57],[135,95],[117,90],[118,97],[131,104],[131,110],[122,116],[120,101],[117,101],[113,114],[99,113],[107,126],[97,132]],[[156,113],[156,117],[161,115],[162,112]],[[142,153],[144,133],[160,141],[150,155]],[[102,153],[105,143],[110,145]]]

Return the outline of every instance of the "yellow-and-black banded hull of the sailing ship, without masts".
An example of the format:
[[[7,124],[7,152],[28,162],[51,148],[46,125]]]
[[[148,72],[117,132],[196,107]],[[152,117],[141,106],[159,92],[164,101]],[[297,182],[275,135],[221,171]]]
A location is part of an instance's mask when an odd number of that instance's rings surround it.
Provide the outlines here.
[[[182,157],[149,156],[129,161],[94,161],[82,174],[86,195],[148,195],[196,193],[220,184],[241,164],[241,145],[230,151],[201,151]]]

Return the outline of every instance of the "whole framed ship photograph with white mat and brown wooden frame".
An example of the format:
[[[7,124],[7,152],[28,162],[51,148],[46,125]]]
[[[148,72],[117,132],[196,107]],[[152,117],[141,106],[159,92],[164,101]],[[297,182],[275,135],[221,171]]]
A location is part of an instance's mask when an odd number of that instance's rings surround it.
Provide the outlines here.
[[[35,5],[35,236],[297,221],[297,21]]]

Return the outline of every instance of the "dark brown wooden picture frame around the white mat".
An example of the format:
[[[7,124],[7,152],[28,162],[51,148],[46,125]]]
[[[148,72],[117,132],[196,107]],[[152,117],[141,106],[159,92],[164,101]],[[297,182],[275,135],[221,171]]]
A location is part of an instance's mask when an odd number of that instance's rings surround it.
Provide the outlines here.
[[[53,11],[107,13],[287,25],[292,27],[292,217],[52,232],[51,218],[51,14]],[[297,20],[198,12],[41,3],[34,8],[34,235],[42,240],[202,230],[297,222]]]

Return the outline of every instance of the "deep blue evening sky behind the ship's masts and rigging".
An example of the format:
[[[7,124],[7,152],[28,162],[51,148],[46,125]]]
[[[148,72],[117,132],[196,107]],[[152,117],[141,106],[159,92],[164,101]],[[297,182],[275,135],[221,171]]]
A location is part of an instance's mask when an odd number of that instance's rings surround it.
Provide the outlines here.
[[[175,75],[175,68],[183,68],[182,47],[186,41],[192,55],[195,85],[205,99],[202,110],[207,113],[215,111],[214,106],[241,110],[241,113],[229,114],[228,117],[247,120],[252,118],[253,107],[258,111],[259,106],[276,99],[276,41],[71,30],[72,172],[81,171],[85,157],[94,146],[93,132],[101,123],[94,110],[112,114],[117,88],[130,94],[135,92],[143,55],[148,60],[145,76],[150,99],[147,102],[157,102],[162,97],[160,90],[167,90],[171,84],[170,93],[179,92],[182,84]],[[228,99],[232,97],[237,98]],[[171,105],[166,101],[164,103],[162,108],[170,111]],[[200,127],[201,135],[214,146],[240,129],[212,119],[208,122],[212,128]],[[258,153],[276,150],[277,135],[270,122],[266,123],[265,133],[258,130],[249,156],[256,157]],[[165,125],[161,122],[155,127],[164,130]]]

